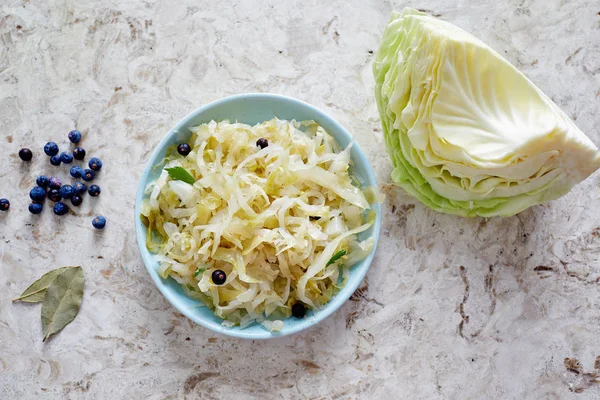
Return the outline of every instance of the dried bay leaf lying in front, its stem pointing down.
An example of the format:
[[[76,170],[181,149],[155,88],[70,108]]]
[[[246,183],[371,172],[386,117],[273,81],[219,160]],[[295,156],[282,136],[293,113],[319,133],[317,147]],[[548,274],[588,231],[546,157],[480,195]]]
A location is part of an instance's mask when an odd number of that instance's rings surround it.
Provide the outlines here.
[[[81,267],[66,268],[50,283],[42,304],[43,341],[73,321],[79,312],[83,286]]]

